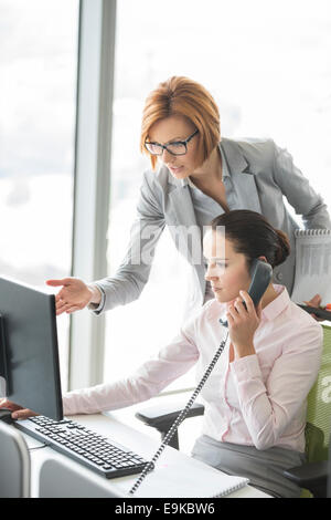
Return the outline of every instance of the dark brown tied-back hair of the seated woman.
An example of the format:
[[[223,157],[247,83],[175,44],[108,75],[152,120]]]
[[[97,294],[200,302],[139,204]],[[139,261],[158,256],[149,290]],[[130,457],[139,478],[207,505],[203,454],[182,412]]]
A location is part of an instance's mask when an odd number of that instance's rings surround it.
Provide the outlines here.
[[[211,222],[216,231],[225,227],[225,238],[231,240],[236,252],[245,254],[248,267],[258,257],[266,257],[273,268],[282,263],[290,253],[287,235],[275,229],[268,220],[256,211],[236,209],[214,218]]]

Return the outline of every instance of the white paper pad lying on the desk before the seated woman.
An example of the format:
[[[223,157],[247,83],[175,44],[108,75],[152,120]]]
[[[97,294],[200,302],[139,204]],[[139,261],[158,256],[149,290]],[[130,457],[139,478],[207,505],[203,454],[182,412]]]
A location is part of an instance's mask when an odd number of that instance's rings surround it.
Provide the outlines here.
[[[159,462],[147,475],[132,498],[216,498],[225,497],[247,483],[247,478],[232,477],[196,459],[188,458],[186,464],[184,460],[178,465]],[[128,493],[132,483],[129,485],[127,478],[124,478],[116,486]]]

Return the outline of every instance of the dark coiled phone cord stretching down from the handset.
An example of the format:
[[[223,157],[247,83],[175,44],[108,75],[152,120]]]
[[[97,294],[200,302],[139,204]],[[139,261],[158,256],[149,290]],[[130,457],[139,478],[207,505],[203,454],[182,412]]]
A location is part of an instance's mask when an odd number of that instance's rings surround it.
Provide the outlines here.
[[[188,415],[191,406],[193,405],[194,401],[196,399],[197,395],[200,394],[203,385],[205,384],[206,379],[209,378],[209,376],[211,375],[211,372],[213,371],[215,364],[217,363],[217,360],[218,357],[221,356],[222,352],[224,351],[224,347],[226,345],[226,342],[227,342],[227,337],[228,337],[228,331],[226,332],[226,336],[225,336],[225,340],[222,341],[221,345],[218,346],[213,360],[211,361],[211,364],[209,365],[209,367],[206,368],[204,375],[202,376],[199,385],[196,386],[196,388],[194,389],[192,396],[190,397],[190,399],[188,401],[188,404],[186,406],[184,407],[184,409],[182,409],[182,412],[180,413],[180,415],[178,416],[178,418],[174,420],[173,425],[171,426],[171,428],[169,429],[168,434],[166,435],[166,437],[163,438],[163,441],[161,444],[161,446],[159,447],[158,451],[156,453],[156,455],[152,457],[152,459],[147,464],[147,466],[145,466],[143,470],[141,471],[140,476],[138,477],[136,483],[132,486],[132,488],[130,489],[129,493],[130,495],[134,495],[137,489],[139,488],[139,486],[141,485],[141,482],[143,481],[143,479],[146,478],[147,474],[153,469],[154,467],[154,464],[156,461],[159,459],[159,457],[161,456],[161,454],[163,453],[166,446],[169,444],[169,441],[171,440],[172,436],[175,434],[178,427],[180,426],[180,424],[184,420],[185,416]]]

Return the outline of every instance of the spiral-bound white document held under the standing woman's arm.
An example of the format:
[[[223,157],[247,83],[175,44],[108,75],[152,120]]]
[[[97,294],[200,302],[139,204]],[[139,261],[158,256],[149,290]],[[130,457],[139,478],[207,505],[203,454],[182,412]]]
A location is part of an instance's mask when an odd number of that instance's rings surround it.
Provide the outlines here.
[[[331,303],[330,229],[296,231],[296,277],[291,300],[302,304],[314,294],[321,295],[321,305]]]

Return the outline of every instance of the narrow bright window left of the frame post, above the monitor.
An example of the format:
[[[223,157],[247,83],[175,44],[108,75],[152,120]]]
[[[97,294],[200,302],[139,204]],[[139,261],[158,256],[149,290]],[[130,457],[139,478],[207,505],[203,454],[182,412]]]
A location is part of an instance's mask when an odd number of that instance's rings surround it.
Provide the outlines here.
[[[78,0],[1,0],[0,20],[0,271],[45,290],[71,273]]]

